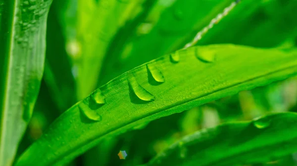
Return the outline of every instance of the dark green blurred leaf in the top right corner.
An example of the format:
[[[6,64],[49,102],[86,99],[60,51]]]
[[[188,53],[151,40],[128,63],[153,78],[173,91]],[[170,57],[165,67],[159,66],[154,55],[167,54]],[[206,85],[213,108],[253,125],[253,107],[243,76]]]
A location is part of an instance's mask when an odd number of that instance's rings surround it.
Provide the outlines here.
[[[242,0],[197,44],[278,46],[297,33],[296,7],[296,0]]]

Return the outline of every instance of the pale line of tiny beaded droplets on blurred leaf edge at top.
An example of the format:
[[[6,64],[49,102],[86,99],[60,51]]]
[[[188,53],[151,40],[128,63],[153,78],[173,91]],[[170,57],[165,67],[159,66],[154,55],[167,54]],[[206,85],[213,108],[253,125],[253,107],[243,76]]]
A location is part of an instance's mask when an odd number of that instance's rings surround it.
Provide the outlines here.
[[[210,30],[214,24],[217,24],[219,23],[219,21],[221,21],[221,19],[225,16],[228,15],[228,13],[235,7],[235,5],[237,3],[239,3],[240,0],[236,0],[236,1],[233,1],[228,7],[226,7],[224,9],[224,11],[222,13],[219,13],[215,18],[213,18],[210,23],[204,27],[201,31],[199,31],[196,36],[194,37],[193,41],[187,43],[184,48],[188,48],[188,47],[191,47],[193,45],[195,45],[201,38],[204,34],[206,34],[208,32],[208,30]]]

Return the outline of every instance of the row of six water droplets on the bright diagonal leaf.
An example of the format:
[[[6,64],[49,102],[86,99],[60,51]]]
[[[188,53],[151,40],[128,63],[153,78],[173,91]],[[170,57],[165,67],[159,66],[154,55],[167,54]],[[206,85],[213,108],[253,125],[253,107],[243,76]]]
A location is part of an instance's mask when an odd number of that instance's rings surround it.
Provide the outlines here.
[[[203,54],[195,49],[195,55],[201,62],[204,63],[211,63],[215,60],[214,53]],[[172,63],[180,62],[180,53],[176,51],[170,54],[170,61]],[[148,73],[151,75],[153,80],[158,84],[165,83],[165,77],[163,76],[162,72],[158,69],[158,67],[153,63],[147,64]],[[133,91],[133,93],[137,96],[138,99],[146,102],[151,102],[155,100],[155,96],[149,93],[144,87],[142,87],[133,76],[133,74],[127,75],[128,85]],[[81,112],[88,118],[94,121],[100,121],[101,116],[97,112],[99,107],[105,104],[105,97],[101,93],[99,89],[93,92],[89,97],[85,98],[79,105],[79,109]]]

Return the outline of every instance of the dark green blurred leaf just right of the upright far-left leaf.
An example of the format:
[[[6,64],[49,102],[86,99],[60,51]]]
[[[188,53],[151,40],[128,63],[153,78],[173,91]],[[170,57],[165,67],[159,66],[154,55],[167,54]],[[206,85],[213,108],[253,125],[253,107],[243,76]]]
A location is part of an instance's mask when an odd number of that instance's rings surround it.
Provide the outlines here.
[[[65,37],[58,22],[58,1],[53,1],[49,10],[47,29],[47,52],[44,80],[49,93],[60,112],[76,102],[75,80],[71,73],[71,59],[65,50]]]

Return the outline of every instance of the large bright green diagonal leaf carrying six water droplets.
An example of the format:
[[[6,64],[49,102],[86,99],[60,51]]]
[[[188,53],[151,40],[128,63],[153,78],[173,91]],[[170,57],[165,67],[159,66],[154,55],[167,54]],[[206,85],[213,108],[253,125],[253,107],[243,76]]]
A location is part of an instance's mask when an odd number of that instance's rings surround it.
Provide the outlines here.
[[[115,78],[72,106],[20,157],[17,166],[61,164],[102,138],[297,75],[297,50],[293,49],[227,44],[191,47],[177,54],[178,63],[172,62],[170,55],[162,56]],[[214,61],[198,58],[206,56],[214,56]],[[165,82],[157,83],[147,65],[154,65]],[[104,103],[94,97],[98,94],[105,96]],[[84,115],[91,112],[89,117]]]

